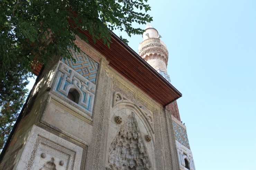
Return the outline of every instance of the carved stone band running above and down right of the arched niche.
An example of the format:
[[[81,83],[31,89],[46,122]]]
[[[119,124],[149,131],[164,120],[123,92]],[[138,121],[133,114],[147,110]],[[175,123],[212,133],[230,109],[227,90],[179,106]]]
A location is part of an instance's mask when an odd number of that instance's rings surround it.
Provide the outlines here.
[[[141,108],[148,117],[148,121],[153,125],[155,146],[156,146],[156,166],[157,169],[173,169],[179,168],[177,160],[177,154],[175,151],[175,140],[173,136],[173,131],[170,130],[169,125],[171,124],[171,119],[166,117],[165,111],[161,106],[150,101],[143,94],[139,93],[138,90],[130,87],[124,80],[116,76],[115,73],[109,71],[109,75],[113,77],[113,90],[119,92],[123,97],[119,99],[114,97],[113,103],[120,100],[130,100]],[[113,104],[112,104],[113,105]],[[168,126],[167,126],[168,124]],[[171,126],[172,129],[172,126]],[[172,140],[173,138],[173,140]],[[167,151],[166,151],[167,150]],[[174,151],[174,152],[173,152]]]

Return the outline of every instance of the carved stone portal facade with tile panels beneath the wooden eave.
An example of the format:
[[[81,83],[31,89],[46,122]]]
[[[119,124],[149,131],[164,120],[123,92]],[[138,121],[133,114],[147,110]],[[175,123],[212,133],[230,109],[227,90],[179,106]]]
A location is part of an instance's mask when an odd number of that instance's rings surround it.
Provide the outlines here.
[[[195,170],[185,126],[172,110],[89,44],[76,44],[76,62],[60,58],[39,77],[0,170],[178,170],[185,160]],[[163,48],[155,59],[166,71],[168,51],[157,44]]]

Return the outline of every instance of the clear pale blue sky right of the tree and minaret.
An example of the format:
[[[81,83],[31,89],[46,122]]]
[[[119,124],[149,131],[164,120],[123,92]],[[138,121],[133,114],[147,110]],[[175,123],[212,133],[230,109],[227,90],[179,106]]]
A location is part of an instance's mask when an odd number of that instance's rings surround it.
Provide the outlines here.
[[[148,4],[183,94],[177,103],[196,170],[256,169],[256,0]],[[121,35],[138,52],[142,37]]]

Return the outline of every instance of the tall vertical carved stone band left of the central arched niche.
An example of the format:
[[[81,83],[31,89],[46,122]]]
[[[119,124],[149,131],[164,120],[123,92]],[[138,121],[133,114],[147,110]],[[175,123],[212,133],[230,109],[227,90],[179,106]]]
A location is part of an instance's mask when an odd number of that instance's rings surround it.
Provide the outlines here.
[[[104,148],[106,147],[106,134],[108,131],[108,118],[110,108],[110,89],[112,79],[106,74],[106,63],[101,61],[98,77],[97,92],[95,94],[95,108],[93,110],[93,131],[91,145],[88,151],[86,169],[104,168]]]

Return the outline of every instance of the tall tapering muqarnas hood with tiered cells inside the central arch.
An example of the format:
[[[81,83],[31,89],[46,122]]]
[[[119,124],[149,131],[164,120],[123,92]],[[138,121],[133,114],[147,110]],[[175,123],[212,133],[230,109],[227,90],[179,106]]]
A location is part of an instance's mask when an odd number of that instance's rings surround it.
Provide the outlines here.
[[[113,170],[151,170],[147,148],[138,128],[135,113],[131,113],[111,143],[109,166]]]

